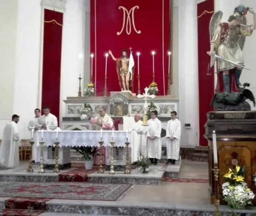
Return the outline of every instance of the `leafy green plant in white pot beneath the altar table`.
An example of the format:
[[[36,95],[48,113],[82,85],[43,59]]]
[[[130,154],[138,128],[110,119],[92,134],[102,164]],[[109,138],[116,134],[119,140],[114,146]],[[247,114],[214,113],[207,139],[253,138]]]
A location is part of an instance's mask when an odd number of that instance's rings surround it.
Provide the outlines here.
[[[91,170],[93,167],[93,157],[96,155],[100,155],[99,148],[91,147],[91,146],[80,146],[73,147],[77,152],[82,154],[82,160],[84,160],[84,166],[86,170]]]

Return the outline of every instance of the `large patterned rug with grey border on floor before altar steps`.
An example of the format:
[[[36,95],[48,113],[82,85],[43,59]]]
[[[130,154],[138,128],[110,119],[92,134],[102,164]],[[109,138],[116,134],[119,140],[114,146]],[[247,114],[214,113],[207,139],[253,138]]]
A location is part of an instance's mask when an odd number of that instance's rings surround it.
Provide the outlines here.
[[[131,186],[132,184],[15,182],[1,187],[0,197],[116,201]]]

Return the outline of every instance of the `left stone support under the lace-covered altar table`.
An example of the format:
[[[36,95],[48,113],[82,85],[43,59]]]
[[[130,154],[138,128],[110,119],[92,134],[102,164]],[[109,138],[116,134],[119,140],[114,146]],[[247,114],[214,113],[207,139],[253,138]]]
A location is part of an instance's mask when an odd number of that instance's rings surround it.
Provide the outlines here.
[[[52,170],[55,166],[55,148],[54,147],[44,147],[44,167],[46,169]],[[64,170],[71,168],[70,162],[70,147],[59,148],[59,169]]]

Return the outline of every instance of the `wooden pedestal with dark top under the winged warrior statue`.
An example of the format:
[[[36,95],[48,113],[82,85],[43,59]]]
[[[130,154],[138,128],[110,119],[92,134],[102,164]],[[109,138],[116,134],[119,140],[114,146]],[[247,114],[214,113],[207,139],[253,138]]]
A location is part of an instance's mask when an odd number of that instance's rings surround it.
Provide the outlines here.
[[[253,189],[256,172],[256,111],[208,112],[205,138],[209,146],[211,202],[215,199],[212,132],[215,130],[219,167],[219,193],[223,175],[233,166],[246,166],[245,182]]]

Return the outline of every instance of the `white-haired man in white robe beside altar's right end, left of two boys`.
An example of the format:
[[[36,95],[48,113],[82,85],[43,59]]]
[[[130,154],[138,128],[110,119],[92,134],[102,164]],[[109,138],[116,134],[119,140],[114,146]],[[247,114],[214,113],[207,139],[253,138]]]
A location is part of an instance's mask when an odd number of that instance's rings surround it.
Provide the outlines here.
[[[140,155],[143,155],[144,157],[147,157],[147,147],[146,147],[146,133],[147,130],[143,130],[141,117],[139,114],[134,115],[134,124],[132,127],[132,130],[136,131],[138,134],[138,159],[140,158]]]

